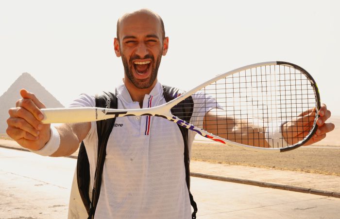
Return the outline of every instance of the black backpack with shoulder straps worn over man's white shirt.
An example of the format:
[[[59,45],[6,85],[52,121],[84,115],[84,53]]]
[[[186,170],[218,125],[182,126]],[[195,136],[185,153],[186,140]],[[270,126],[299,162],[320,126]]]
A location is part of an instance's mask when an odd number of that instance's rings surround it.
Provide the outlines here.
[[[117,93],[117,91],[116,91]],[[181,95],[182,91],[163,85],[163,95],[166,102],[176,98]],[[118,108],[118,99],[116,94],[111,92],[103,92],[102,95],[96,95],[96,107],[101,108]],[[171,109],[171,113],[176,115],[180,119],[189,123],[193,111],[193,100],[192,97],[188,97],[183,100],[180,104],[174,106]],[[114,127],[116,118],[97,121],[97,134],[98,134],[98,151],[97,151],[97,166],[94,177],[94,185],[92,189],[92,198],[89,197],[89,186],[90,186],[90,166],[88,162],[88,157],[85,149],[84,142],[81,143],[78,153],[76,174],[77,183],[80,193],[80,197],[85,205],[85,209],[88,214],[88,219],[93,219],[96,211],[97,203],[99,200],[101,183],[102,183],[102,170],[104,166],[105,156],[106,156],[106,145],[109,139],[110,133]],[[188,149],[188,129],[178,125],[183,141],[184,141],[184,165],[186,170],[186,183],[187,189],[189,191],[190,204],[194,211],[191,215],[192,219],[196,219],[197,204],[193,200],[190,193],[190,157]]]

